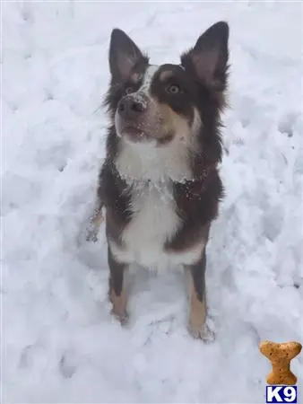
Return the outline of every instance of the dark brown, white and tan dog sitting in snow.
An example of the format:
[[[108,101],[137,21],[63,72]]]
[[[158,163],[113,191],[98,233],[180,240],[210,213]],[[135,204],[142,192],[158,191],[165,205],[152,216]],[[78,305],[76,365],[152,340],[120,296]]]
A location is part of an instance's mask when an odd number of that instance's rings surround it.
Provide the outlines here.
[[[110,37],[110,124],[87,240],[106,210],[109,296],[124,323],[126,269],[183,266],[190,290],[188,329],[214,338],[205,294],[206,244],[224,189],[221,113],[226,107],[229,25],[217,22],[180,57],[155,66],[124,31]]]

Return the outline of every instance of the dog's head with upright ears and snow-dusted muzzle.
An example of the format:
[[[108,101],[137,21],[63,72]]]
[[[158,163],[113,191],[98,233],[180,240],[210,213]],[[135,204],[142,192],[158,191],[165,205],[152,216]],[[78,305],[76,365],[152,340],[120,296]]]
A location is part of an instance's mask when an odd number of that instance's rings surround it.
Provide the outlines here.
[[[154,66],[124,31],[113,30],[106,103],[117,137],[155,147],[178,142],[204,154],[213,150],[220,160],[228,39],[228,24],[218,22],[181,56],[180,65]]]

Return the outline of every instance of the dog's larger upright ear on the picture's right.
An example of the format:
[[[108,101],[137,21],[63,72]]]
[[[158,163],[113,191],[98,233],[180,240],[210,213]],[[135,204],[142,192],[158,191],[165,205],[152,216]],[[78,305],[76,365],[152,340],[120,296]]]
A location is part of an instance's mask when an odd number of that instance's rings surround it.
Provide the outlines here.
[[[182,66],[193,71],[199,81],[208,85],[225,85],[229,60],[229,25],[213,24],[196,41],[195,47],[181,56]]]

